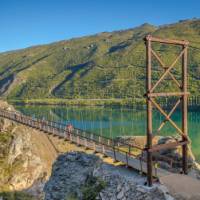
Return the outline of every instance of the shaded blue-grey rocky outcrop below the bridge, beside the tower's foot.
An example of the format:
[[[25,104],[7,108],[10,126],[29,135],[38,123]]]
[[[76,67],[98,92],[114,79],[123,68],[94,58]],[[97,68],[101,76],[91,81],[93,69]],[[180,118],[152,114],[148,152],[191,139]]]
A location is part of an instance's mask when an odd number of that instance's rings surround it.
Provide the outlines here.
[[[95,155],[71,152],[58,157],[46,183],[45,200],[166,200],[161,186],[147,188],[132,172],[120,173]],[[143,183],[143,182],[142,182]]]

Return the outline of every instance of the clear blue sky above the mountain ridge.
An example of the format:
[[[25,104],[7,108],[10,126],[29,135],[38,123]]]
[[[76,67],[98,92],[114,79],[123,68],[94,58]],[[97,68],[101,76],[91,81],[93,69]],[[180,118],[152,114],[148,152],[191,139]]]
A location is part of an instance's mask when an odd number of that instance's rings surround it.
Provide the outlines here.
[[[199,0],[0,0],[0,52],[194,17]]]

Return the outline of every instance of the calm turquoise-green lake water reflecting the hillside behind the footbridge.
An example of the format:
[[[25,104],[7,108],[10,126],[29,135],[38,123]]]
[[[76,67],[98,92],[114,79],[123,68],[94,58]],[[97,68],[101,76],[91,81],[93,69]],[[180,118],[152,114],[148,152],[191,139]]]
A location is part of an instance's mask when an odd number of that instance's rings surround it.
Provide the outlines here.
[[[69,106],[16,106],[22,113],[62,123],[72,123],[75,127],[116,137],[119,135],[144,135],[146,133],[146,111],[130,108],[69,107]],[[154,130],[164,119],[154,112]],[[180,126],[180,112],[176,111],[172,119]],[[189,135],[193,152],[200,160],[200,111],[188,113]],[[164,126],[161,135],[173,135],[176,131],[169,124]]]

